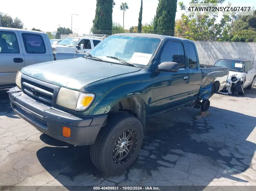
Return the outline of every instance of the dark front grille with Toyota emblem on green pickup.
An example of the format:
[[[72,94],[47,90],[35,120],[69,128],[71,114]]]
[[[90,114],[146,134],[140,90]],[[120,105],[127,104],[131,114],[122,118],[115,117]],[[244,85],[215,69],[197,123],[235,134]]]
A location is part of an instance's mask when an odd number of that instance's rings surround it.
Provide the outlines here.
[[[22,78],[22,91],[29,97],[52,106],[52,88]]]

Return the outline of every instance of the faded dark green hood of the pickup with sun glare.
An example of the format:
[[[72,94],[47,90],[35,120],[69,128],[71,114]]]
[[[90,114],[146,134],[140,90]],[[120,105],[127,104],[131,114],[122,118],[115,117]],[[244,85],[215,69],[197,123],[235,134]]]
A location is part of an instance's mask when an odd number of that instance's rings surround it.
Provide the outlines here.
[[[21,72],[50,84],[80,90],[95,81],[139,70],[141,68],[128,65],[76,58],[26,66]]]

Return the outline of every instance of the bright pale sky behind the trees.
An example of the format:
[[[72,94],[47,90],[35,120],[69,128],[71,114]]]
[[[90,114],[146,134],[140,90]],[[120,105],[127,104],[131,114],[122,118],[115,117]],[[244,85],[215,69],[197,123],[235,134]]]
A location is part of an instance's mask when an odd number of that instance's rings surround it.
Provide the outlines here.
[[[180,2],[182,0],[178,0]],[[227,1],[227,0],[226,0]],[[120,5],[122,2],[128,4],[129,9],[125,11],[125,29],[129,29],[131,26],[138,25],[138,16],[140,11],[140,0],[115,0],[115,7],[113,8],[113,22],[123,24],[123,11],[121,11]],[[190,0],[183,0],[185,5],[189,5]],[[227,1],[228,2],[228,1]],[[241,0],[230,0],[232,3],[240,3]],[[252,3],[253,0],[243,0],[241,6],[244,3]],[[35,1],[35,0],[12,0],[10,2],[1,1],[0,12],[10,15],[12,18],[18,17],[24,23],[24,28],[40,29],[44,32],[54,32],[58,28],[58,24],[61,27],[71,28],[71,15],[72,16],[72,28],[76,33],[89,33],[92,27],[92,20],[95,17],[96,0],[80,0],[74,1]],[[144,0],[142,11],[142,24],[150,23],[156,14],[156,8],[158,6],[158,0]],[[255,6],[255,3],[254,3]],[[181,11],[177,6],[176,19],[181,18]]]

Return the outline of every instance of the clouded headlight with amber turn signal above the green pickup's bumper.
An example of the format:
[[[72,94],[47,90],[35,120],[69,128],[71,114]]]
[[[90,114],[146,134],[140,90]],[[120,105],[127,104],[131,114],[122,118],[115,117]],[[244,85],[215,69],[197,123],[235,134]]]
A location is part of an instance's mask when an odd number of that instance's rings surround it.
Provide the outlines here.
[[[76,111],[88,108],[95,98],[94,94],[60,88],[57,105]]]

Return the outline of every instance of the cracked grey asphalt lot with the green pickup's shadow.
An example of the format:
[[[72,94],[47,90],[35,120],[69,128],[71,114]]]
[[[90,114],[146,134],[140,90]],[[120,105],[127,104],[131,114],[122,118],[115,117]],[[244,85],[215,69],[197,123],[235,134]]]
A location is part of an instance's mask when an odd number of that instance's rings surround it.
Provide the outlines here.
[[[108,176],[88,146],[42,134],[0,94],[0,186],[243,186],[256,187],[256,89],[243,97],[215,94],[210,116],[184,107],[148,119],[137,161]],[[234,188],[234,187],[232,187]],[[235,189],[232,189],[235,190]],[[244,190],[244,189],[243,189]]]

